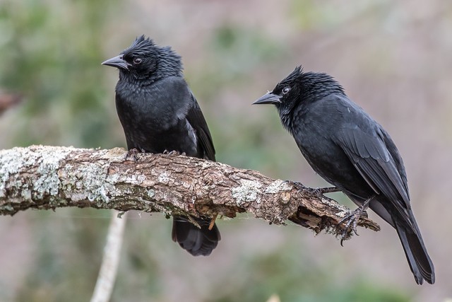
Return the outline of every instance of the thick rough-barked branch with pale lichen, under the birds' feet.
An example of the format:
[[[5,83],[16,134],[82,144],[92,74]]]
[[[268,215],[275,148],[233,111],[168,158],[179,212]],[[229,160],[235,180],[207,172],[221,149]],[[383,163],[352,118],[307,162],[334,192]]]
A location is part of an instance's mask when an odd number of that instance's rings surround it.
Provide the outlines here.
[[[248,212],[281,224],[287,220],[338,235],[350,210],[332,199],[302,194],[290,182],[254,170],[170,154],[124,149],[30,146],[0,151],[0,214],[26,209],[93,207],[168,215],[234,217]],[[369,219],[360,226],[379,230]]]

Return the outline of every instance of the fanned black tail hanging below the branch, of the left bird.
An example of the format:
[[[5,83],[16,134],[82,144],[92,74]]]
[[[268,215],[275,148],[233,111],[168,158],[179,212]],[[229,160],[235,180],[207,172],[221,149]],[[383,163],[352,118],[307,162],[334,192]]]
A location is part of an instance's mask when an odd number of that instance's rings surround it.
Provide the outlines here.
[[[181,248],[194,256],[208,256],[217,247],[220,241],[220,231],[217,225],[209,230],[210,221],[206,219],[194,219],[201,228],[195,226],[189,219],[182,216],[174,216],[172,223],[172,240],[179,243]]]

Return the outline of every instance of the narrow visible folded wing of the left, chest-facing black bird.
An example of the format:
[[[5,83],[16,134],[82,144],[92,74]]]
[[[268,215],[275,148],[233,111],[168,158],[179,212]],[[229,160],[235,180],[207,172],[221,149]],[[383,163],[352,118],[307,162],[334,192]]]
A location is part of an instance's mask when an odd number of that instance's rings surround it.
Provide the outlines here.
[[[201,112],[201,108],[199,108],[193,93],[191,93],[191,98],[193,99],[193,103],[186,114],[186,119],[196,132],[198,148],[200,148],[202,151],[201,153],[203,153],[202,157],[210,161],[215,161],[215,148],[213,147],[212,137],[210,136],[210,131],[207,127],[206,120],[204,119],[203,112]]]

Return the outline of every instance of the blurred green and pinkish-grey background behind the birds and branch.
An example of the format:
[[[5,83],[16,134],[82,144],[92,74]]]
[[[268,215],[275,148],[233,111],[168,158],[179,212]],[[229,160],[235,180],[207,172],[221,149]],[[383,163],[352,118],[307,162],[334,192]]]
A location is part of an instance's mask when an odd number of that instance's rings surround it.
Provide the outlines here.
[[[118,72],[101,66],[145,34],[182,55],[218,161],[325,185],[270,106],[251,103],[302,64],[343,84],[402,153],[436,268],[417,286],[396,231],[339,240],[249,216],[218,221],[210,257],[170,238],[163,214],[131,213],[112,301],[451,301],[451,1],[0,0],[0,148],[125,146]],[[332,195],[355,208],[342,194]],[[88,301],[110,211],[0,217],[0,301]]]

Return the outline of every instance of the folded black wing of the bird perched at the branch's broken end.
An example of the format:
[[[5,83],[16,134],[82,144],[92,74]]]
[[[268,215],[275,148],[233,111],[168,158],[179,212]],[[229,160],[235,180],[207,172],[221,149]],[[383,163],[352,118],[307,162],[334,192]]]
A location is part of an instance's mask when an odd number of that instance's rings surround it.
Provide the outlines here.
[[[390,200],[403,219],[409,218],[410,197],[403,163],[391,137],[357,105],[337,129],[335,143],[350,158],[364,180],[377,194]],[[408,210],[408,211],[407,211]],[[414,228],[414,226],[413,226]]]

